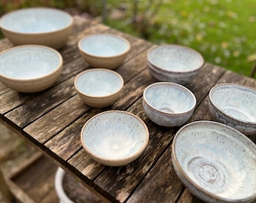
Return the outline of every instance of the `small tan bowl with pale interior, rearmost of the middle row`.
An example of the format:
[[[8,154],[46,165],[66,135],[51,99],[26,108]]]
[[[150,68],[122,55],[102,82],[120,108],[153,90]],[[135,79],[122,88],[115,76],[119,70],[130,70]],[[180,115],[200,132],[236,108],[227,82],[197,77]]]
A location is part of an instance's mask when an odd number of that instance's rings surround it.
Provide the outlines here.
[[[115,35],[89,35],[78,42],[84,60],[93,68],[114,69],[120,66],[130,51],[130,43]]]

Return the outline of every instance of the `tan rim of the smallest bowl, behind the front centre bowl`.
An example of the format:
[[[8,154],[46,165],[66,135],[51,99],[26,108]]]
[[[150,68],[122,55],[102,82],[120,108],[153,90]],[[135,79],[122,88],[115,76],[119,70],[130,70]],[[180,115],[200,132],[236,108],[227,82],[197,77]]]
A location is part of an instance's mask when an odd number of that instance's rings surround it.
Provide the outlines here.
[[[79,89],[78,86],[77,86],[77,80],[78,80],[79,77],[81,77],[81,75],[87,74],[88,72],[92,72],[92,71],[105,71],[105,72],[108,72],[110,74],[115,74],[120,79],[120,82],[121,82],[120,87],[116,91],[111,92],[111,94],[109,94],[109,95],[88,95],[88,94],[82,92],[81,89]],[[117,94],[117,92],[120,92],[120,90],[123,88],[123,85],[124,85],[123,77],[120,74],[118,74],[116,71],[112,71],[112,70],[106,69],[106,68],[90,68],[90,69],[87,69],[86,71],[82,71],[81,73],[79,73],[75,77],[75,80],[74,80],[75,89],[81,95],[87,96],[88,98],[108,98],[108,97],[111,97],[112,95]]]

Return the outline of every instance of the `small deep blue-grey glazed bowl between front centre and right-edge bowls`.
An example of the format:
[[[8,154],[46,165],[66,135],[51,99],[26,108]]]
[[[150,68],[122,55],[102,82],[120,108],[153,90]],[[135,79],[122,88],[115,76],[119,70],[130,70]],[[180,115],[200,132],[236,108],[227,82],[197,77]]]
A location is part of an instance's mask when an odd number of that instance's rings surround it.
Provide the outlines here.
[[[159,126],[181,126],[194,113],[196,104],[194,94],[177,83],[152,83],[143,92],[145,114]]]

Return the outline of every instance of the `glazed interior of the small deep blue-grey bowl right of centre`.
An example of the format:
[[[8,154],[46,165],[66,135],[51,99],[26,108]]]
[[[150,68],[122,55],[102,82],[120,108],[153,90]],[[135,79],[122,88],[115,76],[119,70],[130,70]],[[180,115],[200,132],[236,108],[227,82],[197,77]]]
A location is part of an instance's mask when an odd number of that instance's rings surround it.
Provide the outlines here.
[[[154,83],[144,92],[145,102],[159,111],[180,114],[196,105],[196,98],[184,86],[175,83]]]

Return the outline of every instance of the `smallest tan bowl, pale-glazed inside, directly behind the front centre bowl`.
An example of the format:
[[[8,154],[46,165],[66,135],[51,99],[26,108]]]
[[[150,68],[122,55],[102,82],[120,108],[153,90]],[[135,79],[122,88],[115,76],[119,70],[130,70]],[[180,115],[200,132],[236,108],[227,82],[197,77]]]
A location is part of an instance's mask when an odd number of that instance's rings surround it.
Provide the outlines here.
[[[75,78],[75,90],[93,108],[104,108],[117,101],[123,88],[123,77],[115,71],[92,68]]]

